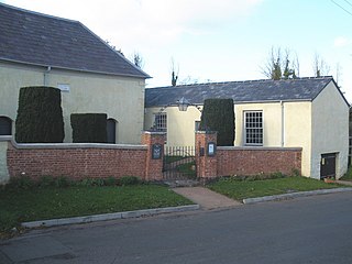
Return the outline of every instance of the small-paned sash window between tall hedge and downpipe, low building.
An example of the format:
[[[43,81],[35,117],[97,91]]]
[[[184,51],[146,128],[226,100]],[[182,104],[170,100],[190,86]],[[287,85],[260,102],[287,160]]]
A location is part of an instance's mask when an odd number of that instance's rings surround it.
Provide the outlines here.
[[[263,112],[248,111],[245,118],[245,144],[263,145]]]

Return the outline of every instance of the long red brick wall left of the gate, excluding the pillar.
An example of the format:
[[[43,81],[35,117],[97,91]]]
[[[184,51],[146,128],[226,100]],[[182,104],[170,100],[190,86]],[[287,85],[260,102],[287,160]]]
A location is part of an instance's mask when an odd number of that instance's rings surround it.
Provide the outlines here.
[[[41,176],[85,177],[139,176],[144,178],[146,147],[103,148],[8,148],[10,177],[25,174],[32,178]]]

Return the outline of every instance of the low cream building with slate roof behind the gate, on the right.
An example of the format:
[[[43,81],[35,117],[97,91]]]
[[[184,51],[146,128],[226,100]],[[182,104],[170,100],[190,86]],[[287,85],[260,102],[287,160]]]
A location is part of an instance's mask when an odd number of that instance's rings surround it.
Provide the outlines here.
[[[302,147],[301,174],[317,179],[346,172],[350,106],[332,77],[146,89],[144,129],[166,132],[167,145],[194,145],[208,98],[233,99],[235,146]]]

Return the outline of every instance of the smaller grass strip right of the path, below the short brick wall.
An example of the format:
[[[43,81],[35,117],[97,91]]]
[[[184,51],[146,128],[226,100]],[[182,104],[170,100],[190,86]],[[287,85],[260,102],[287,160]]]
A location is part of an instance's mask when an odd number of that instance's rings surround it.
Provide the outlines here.
[[[264,180],[239,180],[233,177],[222,178],[213,184],[209,184],[207,187],[232,199],[242,200],[245,198],[283,195],[295,191],[329,189],[341,186],[338,184],[326,184],[321,180],[295,176]]]

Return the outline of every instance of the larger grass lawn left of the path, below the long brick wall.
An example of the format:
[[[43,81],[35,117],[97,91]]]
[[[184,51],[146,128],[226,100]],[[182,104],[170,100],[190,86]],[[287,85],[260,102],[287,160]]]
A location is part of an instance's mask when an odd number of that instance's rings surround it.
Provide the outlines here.
[[[165,186],[0,189],[0,232],[20,222],[191,205]]]

